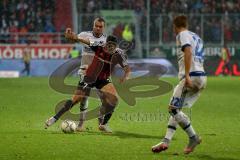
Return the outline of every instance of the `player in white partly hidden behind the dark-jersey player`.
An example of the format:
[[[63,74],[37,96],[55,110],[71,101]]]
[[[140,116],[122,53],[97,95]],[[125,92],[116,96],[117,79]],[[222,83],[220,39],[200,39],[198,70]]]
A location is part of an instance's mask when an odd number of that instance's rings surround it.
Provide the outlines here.
[[[98,17],[94,20],[93,30],[85,31],[78,34],[78,38],[89,39],[96,43],[106,43],[106,35],[103,33],[105,29],[105,20]],[[88,66],[92,63],[94,57],[94,51],[88,46],[84,45],[82,50],[81,67],[79,74],[82,77],[83,73],[86,71]],[[90,92],[90,90],[89,90]],[[90,93],[88,93],[90,94]],[[77,131],[84,131],[84,117],[88,108],[88,98],[84,97],[80,102],[80,120],[77,127]]]

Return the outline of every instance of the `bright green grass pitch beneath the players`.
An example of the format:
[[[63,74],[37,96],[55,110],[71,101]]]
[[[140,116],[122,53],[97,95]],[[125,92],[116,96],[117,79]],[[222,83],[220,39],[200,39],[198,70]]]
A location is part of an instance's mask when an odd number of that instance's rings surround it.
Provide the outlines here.
[[[176,78],[164,80],[177,83]],[[77,79],[68,82],[75,84]],[[87,132],[64,134],[60,122],[48,130],[43,124],[53,115],[55,104],[70,95],[50,89],[47,78],[0,79],[0,159],[239,159],[239,95],[239,78],[208,78],[207,89],[192,109],[192,124],[202,136],[202,144],[191,155],[184,155],[188,139],[178,128],[170,148],[153,154],[151,146],[166,131],[171,92],[138,99],[135,107],[120,101],[110,121],[111,135],[98,131],[97,120],[86,122]],[[89,106],[97,104],[90,100]],[[78,110],[75,107],[73,112]],[[150,114],[157,118],[146,119]]]

